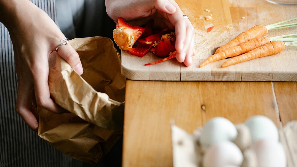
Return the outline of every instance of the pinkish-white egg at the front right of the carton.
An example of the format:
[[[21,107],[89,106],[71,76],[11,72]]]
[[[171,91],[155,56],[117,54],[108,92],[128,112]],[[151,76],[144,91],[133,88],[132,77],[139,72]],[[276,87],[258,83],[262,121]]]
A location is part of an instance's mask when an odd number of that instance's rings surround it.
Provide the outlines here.
[[[283,146],[275,140],[257,141],[253,150],[256,153],[258,167],[286,167],[287,159]]]

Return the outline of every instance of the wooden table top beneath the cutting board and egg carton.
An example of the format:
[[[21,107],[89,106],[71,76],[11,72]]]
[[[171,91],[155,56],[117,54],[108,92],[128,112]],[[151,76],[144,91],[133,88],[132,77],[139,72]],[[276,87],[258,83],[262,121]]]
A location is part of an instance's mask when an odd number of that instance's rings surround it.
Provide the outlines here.
[[[207,2],[200,1],[201,4]],[[186,2],[177,1],[182,9]],[[276,17],[284,16],[278,13],[294,10],[292,6],[269,4],[264,0],[230,0],[229,7],[235,30],[236,18],[249,14],[250,10],[258,13],[261,8],[265,9],[262,12],[275,10]],[[238,124],[253,115],[265,115],[279,128],[297,120],[297,83],[127,80],[123,166],[172,166],[171,120],[192,133],[215,116]]]

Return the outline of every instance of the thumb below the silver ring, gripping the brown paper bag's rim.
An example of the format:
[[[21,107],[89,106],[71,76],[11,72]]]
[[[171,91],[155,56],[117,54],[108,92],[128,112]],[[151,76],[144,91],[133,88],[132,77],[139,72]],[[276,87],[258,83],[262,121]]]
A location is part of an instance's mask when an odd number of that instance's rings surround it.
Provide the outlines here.
[[[58,54],[79,74],[82,75],[82,63],[79,59],[78,53],[70,44],[62,45],[58,49]]]

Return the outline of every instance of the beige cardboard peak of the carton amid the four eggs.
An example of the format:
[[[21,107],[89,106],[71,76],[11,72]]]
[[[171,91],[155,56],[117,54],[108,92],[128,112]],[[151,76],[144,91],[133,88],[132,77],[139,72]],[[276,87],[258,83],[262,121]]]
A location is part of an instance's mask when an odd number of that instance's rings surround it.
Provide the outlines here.
[[[237,137],[233,140],[240,150],[243,152],[246,148],[252,145],[251,133],[245,124],[236,125]]]

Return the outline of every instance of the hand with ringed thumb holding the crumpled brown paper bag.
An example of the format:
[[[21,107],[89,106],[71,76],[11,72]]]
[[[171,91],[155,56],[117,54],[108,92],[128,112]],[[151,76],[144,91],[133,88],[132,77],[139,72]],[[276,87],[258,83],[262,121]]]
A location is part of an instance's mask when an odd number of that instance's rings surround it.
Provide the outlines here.
[[[0,5],[5,5],[3,3]],[[6,8],[13,19],[4,19],[3,22],[13,43],[18,77],[16,112],[32,130],[37,131],[39,116],[36,106],[55,113],[65,111],[50,97],[48,85],[49,55],[65,36],[55,22],[30,1],[12,0],[9,5],[14,5]],[[18,10],[14,12],[9,7]],[[79,55],[70,44],[62,45],[58,53],[77,73],[83,73]]]

